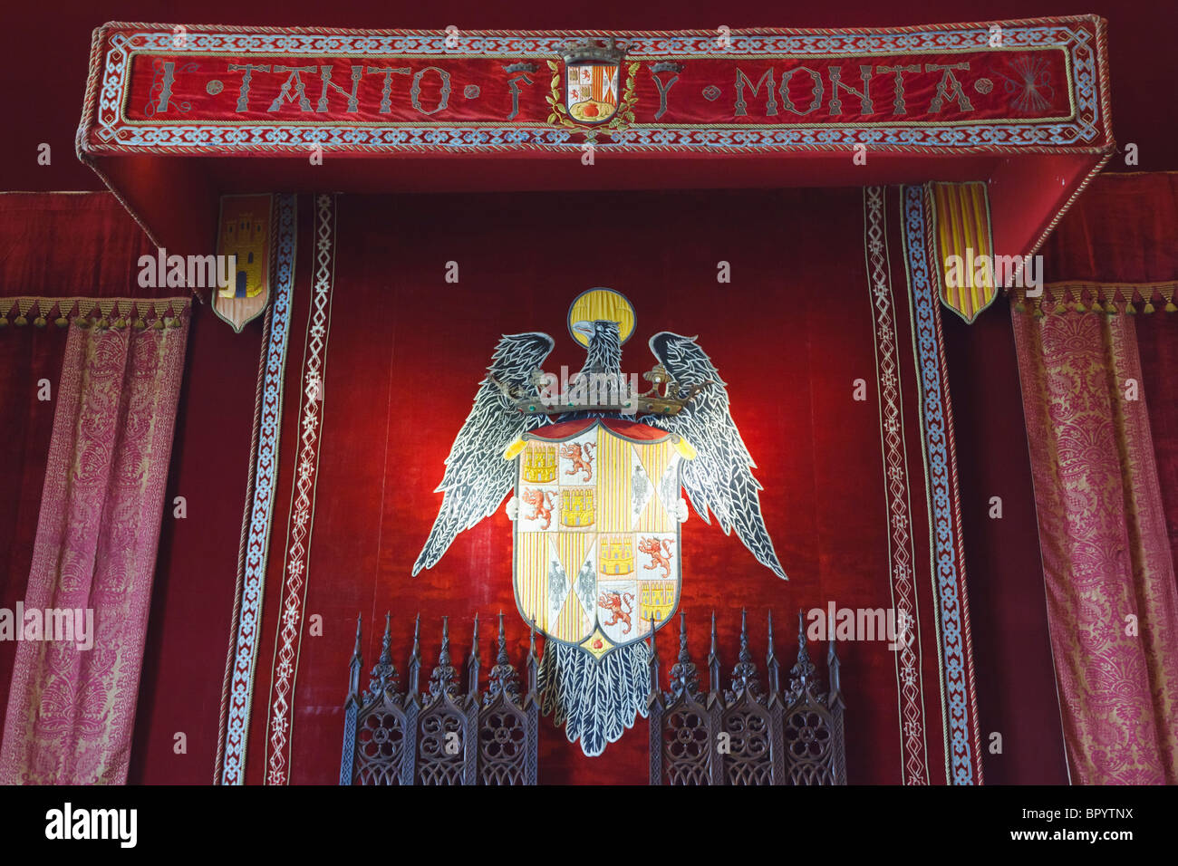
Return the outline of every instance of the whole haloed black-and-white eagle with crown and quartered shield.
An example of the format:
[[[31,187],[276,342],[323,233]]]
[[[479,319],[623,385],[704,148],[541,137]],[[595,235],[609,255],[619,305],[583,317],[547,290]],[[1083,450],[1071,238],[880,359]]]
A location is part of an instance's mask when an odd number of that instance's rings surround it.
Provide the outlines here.
[[[684,574],[681,491],[700,517],[735,529],[786,576],[716,368],[695,337],[662,331],[650,338],[657,363],[640,385],[621,365],[634,324],[617,292],[581,295],[569,330],[588,357],[568,381],[541,369],[555,345],[549,335],[499,341],[413,566],[413,574],[435,566],[458,533],[514,493],[516,603],[545,637],[542,708],[588,755],[646,715],[646,639],[670,620]]]

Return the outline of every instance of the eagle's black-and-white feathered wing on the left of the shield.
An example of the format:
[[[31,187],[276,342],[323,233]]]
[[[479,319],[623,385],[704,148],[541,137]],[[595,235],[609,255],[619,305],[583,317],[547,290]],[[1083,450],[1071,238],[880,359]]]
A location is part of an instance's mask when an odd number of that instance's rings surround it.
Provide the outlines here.
[[[528,430],[548,423],[543,415],[519,412],[503,389],[512,394],[538,394],[531,373],[555,345],[547,333],[504,335],[487,376],[479,383],[475,405],[463,422],[445,458],[445,472],[435,493],[442,494],[442,508],[425,547],[413,563],[416,575],[434,568],[458,533],[495,514],[515,483],[515,464],[503,460],[503,451]]]

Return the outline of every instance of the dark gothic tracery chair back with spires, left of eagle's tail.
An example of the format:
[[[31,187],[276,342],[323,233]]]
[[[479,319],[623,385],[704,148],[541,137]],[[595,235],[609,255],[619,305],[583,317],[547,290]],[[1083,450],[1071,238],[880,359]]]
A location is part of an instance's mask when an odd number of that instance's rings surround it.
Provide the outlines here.
[[[450,633],[443,619],[438,662],[422,693],[418,680],[421,619],[413,628],[409,681],[398,690],[392,663],[389,617],[380,657],[366,692],[360,692],[360,626],[344,705],[340,785],[535,785],[540,735],[536,699],[536,643],[528,652],[528,693],[507,653],[499,615],[498,652],[481,690],[478,617],[466,660],[466,692],[450,663]]]

